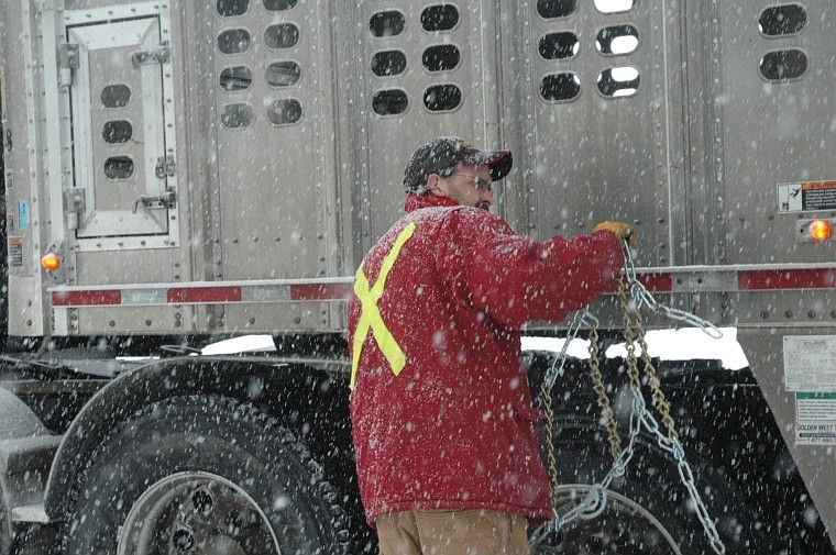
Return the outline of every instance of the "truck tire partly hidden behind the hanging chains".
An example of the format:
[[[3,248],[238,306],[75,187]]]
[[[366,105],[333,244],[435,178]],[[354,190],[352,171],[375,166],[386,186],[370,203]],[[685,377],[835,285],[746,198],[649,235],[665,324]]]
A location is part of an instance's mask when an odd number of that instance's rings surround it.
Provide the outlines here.
[[[623,439],[626,442],[626,439]],[[605,432],[594,422],[563,425],[556,434],[559,467],[558,514],[584,500],[609,471]],[[748,510],[736,503],[734,488],[688,454],[696,488],[725,544],[726,553],[750,553],[741,526]],[[679,477],[673,457],[654,440],[639,435],[626,474],[606,490],[604,510],[566,524],[557,540],[532,548],[534,555],[605,554],[708,555],[715,553]]]

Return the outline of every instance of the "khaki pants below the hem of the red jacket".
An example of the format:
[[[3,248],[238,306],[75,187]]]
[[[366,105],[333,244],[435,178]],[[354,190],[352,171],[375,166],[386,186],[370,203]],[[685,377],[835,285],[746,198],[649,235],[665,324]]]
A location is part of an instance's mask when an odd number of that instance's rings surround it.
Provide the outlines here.
[[[492,511],[406,511],[375,522],[381,555],[529,555],[526,519]]]

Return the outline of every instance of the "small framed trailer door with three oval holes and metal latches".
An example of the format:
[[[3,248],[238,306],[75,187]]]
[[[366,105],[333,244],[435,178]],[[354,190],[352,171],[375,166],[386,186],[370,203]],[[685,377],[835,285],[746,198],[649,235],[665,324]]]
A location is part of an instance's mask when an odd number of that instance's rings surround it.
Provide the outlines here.
[[[95,21],[74,12],[62,55],[69,85],[76,236],[155,236],[169,245],[177,202],[170,52],[161,14]],[[94,20],[92,22],[90,20]],[[165,34],[167,36],[167,34]],[[89,241],[87,242],[89,243]],[[135,248],[161,246],[136,241]],[[121,244],[121,243],[120,243]]]

